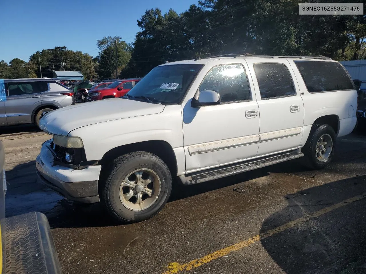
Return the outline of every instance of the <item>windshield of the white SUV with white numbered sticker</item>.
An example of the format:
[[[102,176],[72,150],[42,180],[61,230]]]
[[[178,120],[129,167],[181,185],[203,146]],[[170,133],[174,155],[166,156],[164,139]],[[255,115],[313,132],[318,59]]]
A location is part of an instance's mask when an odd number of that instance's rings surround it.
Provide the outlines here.
[[[161,103],[179,104],[202,66],[201,64],[157,66],[127,94],[135,97],[145,96]]]

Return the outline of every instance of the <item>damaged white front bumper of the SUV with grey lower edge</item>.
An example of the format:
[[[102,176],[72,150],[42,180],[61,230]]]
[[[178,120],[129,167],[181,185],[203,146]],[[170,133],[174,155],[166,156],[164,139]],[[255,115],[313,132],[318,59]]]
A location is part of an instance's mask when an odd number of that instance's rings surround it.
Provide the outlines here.
[[[54,164],[54,155],[46,141],[36,159],[37,174],[42,183],[60,195],[79,202],[99,202],[98,180],[101,165],[90,165],[81,170]]]

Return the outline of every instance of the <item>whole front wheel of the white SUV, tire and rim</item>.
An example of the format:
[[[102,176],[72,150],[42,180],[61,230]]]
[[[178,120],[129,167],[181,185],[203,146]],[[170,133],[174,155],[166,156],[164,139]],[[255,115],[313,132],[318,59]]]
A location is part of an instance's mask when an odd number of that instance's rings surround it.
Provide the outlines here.
[[[169,168],[149,152],[116,158],[104,183],[102,200],[117,222],[132,223],[153,217],[163,209],[172,190]]]

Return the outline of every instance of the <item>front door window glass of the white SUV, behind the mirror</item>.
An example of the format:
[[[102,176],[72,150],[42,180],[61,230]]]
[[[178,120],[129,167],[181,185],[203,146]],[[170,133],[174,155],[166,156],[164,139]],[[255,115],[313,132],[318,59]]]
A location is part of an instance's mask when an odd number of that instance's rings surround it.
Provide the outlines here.
[[[212,68],[199,86],[199,91],[213,90],[221,103],[250,100],[250,90],[243,65],[230,64]]]

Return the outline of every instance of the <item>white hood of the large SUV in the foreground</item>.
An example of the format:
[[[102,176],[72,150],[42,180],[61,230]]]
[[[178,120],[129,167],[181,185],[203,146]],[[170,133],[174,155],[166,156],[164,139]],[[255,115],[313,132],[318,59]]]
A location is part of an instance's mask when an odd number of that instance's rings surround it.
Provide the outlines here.
[[[164,107],[122,98],[80,103],[47,113],[40,121],[40,128],[47,133],[66,136],[71,130],[83,126],[161,113]]]

